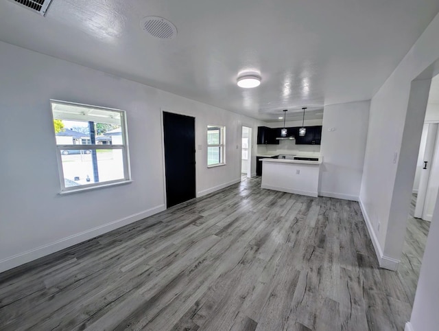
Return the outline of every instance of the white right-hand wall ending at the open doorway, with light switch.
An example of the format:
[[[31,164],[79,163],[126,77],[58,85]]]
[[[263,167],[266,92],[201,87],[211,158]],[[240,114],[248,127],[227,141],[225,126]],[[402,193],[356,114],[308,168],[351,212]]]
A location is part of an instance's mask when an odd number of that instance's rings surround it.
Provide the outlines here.
[[[436,16],[370,104],[360,202],[380,264],[389,269],[401,257],[430,84],[412,80],[439,58],[438,34]]]

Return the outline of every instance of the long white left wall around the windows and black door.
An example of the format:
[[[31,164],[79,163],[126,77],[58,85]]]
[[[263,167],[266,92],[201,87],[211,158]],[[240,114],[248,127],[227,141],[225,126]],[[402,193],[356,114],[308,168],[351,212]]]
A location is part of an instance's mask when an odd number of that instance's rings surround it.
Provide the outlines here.
[[[262,125],[7,43],[0,42],[0,58],[0,271],[163,210],[161,110],[196,117],[198,196],[239,181],[241,125],[254,128],[254,142]],[[127,111],[132,183],[58,194],[51,98]],[[226,126],[224,166],[206,168],[207,124]]]

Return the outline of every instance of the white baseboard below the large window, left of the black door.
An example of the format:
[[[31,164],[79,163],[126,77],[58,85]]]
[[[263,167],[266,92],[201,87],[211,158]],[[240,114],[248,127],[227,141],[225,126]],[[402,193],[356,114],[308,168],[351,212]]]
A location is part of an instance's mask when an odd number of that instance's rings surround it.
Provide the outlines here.
[[[124,225],[128,225],[132,222],[137,222],[138,220],[141,220],[148,216],[163,212],[163,210],[165,209],[165,205],[158,205],[143,212],[132,214],[119,220],[114,220],[104,225],[99,225],[99,227],[94,227],[93,229],[89,229],[81,233],[76,233],[73,236],[62,238],[60,240],[57,240],[56,242],[51,242],[50,244],[45,244],[43,246],[36,247],[35,249],[31,249],[29,251],[13,255],[9,258],[5,258],[3,260],[0,260],[0,273],[15,268],[16,266],[20,266],[21,264],[31,262],[38,258],[43,258],[43,256],[61,251],[62,249],[66,249],[67,247],[79,244],[80,242],[90,240],[91,238],[95,238],[106,232],[115,230],[119,227],[123,227]]]

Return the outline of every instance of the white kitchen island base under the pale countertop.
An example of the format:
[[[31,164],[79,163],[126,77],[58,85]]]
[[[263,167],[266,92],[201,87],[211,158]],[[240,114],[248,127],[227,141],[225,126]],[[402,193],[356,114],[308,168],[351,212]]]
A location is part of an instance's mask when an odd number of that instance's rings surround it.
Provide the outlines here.
[[[262,159],[261,187],[287,193],[318,196],[319,161]]]

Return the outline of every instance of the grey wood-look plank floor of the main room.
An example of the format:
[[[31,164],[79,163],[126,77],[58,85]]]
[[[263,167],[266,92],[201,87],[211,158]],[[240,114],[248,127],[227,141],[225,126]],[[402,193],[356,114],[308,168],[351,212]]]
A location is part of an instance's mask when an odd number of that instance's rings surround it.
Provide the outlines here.
[[[0,274],[0,330],[403,330],[358,203],[247,179]]]

